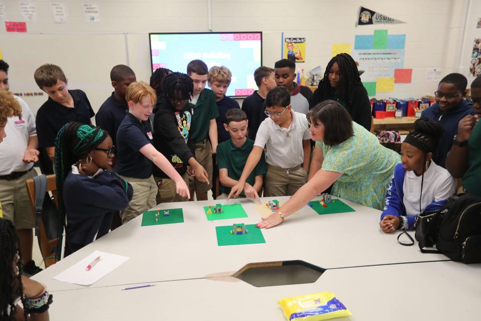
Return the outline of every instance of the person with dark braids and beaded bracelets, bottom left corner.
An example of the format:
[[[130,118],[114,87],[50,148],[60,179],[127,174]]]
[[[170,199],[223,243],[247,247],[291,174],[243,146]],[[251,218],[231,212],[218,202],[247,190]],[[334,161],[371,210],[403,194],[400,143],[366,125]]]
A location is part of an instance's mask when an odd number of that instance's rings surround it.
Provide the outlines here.
[[[0,218],[0,320],[48,321],[52,295],[22,272],[17,230],[12,221]]]

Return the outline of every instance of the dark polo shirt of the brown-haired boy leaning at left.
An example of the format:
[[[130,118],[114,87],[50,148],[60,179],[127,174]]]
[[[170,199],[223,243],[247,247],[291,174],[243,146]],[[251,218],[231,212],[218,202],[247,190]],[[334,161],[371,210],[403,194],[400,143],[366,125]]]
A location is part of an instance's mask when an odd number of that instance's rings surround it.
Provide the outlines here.
[[[39,108],[36,116],[39,147],[55,146],[57,132],[66,123],[78,121],[90,124],[90,118],[95,113],[85,92],[80,89],[69,90],[74,99],[74,108],[66,107],[49,99]]]

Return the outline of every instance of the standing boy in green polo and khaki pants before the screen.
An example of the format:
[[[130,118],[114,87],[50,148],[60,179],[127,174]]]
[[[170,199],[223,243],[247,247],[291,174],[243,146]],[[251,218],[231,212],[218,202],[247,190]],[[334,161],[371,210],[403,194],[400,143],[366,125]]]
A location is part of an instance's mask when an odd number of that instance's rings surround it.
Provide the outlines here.
[[[190,102],[195,105],[192,114],[192,123],[189,140],[195,145],[195,159],[209,174],[209,183],[200,182],[189,169],[189,190],[192,201],[194,192],[197,201],[207,200],[207,191],[212,188],[212,154],[217,149],[217,123],[215,118],[219,115],[217,103],[212,90],[205,89],[207,84],[208,69],[202,60],[192,60],[187,65],[187,75],[194,83],[194,93]]]

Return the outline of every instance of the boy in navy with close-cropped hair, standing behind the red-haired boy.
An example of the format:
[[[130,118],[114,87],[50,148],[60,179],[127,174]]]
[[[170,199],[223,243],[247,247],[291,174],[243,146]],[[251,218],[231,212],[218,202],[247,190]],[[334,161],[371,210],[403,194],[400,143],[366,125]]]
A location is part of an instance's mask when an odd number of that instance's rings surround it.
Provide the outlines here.
[[[134,71],[129,66],[117,65],[110,71],[110,81],[114,92],[100,106],[95,115],[95,123],[100,128],[107,130],[115,146],[117,145],[117,129],[128,109],[125,92],[127,87],[137,80]]]

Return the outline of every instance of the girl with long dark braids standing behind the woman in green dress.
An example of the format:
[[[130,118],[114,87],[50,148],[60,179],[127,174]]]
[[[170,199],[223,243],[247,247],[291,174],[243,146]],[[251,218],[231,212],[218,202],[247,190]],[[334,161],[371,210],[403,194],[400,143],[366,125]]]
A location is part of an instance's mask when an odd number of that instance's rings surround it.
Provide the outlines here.
[[[324,78],[312,96],[311,108],[325,100],[339,102],[353,121],[371,130],[371,103],[350,55],[338,54],[327,64]]]

